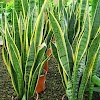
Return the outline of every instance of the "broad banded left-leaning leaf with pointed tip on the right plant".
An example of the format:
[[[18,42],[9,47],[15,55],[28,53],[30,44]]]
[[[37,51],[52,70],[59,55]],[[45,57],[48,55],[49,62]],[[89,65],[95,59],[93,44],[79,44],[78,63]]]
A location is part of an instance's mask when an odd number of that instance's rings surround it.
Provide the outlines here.
[[[66,74],[70,76],[69,60],[68,60],[66,43],[64,39],[64,33],[62,32],[58,21],[51,13],[50,13],[50,22],[52,25],[54,36],[56,38],[56,44],[58,48],[58,57],[59,57],[60,63],[63,66],[63,69],[66,72]]]

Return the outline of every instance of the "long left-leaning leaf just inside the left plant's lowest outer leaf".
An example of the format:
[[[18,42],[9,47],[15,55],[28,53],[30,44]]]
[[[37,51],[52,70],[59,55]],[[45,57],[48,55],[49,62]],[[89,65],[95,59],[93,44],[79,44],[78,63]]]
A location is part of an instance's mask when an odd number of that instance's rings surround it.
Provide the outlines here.
[[[23,73],[22,73],[22,67],[21,67],[21,58],[19,55],[19,51],[9,33],[7,25],[8,24],[6,23],[5,38],[6,38],[7,49],[8,49],[9,57],[11,60],[11,64],[18,78],[17,81],[18,81],[19,96],[22,96],[24,83],[23,83]]]

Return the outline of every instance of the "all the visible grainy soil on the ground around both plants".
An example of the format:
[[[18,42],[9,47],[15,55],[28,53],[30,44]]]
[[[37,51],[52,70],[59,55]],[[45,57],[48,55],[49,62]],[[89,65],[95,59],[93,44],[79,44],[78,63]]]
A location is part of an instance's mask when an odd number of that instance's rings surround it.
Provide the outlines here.
[[[11,100],[14,90],[6,66],[4,65],[0,47],[0,100]],[[54,58],[49,61],[45,91],[39,94],[39,100],[61,100],[65,90]],[[87,98],[87,97],[86,97]],[[100,100],[100,94],[94,93],[93,100]],[[65,97],[64,100],[67,100]],[[87,100],[87,99],[85,99]]]

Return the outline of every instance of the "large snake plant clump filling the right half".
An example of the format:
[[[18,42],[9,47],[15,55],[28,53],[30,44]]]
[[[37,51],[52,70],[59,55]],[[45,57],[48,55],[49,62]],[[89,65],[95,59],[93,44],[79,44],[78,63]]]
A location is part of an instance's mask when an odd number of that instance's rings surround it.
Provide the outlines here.
[[[72,0],[70,6],[59,0],[57,9],[49,13],[56,39],[55,44],[51,43],[53,54],[68,100],[83,100],[89,80],[98,80],[95,71],[100,52],[100,0],[93,8],[92,18],[88,0]]]

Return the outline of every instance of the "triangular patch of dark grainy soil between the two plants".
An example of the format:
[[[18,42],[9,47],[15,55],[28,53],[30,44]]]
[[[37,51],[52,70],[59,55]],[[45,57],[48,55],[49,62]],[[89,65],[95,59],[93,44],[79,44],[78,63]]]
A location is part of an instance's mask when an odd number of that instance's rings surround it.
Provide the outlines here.
[[[51,58],[49,61],[46,89],[43,93],[39,94],[39,100],[61,100],[65,94],[57,66],[58,64],[55,59]]]

